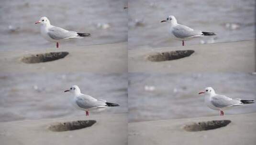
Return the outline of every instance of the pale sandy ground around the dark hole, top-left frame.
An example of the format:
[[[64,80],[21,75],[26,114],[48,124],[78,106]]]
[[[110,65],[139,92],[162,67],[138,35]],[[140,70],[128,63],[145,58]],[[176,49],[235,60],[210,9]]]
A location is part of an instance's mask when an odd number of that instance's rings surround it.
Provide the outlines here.
[[[52,62],[27,64],[22,57],[48,52],[69,52],[63,58]],[[104,45],[50,48],[38,51],[0,52],[1,73],[37,73],[37,72],[127,72],[127,42]]]

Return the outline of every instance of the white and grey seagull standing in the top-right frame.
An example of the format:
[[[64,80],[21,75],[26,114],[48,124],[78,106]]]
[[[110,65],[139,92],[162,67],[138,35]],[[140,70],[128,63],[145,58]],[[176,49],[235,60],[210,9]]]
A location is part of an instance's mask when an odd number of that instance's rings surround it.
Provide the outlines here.
[[[169,28],[170,36],[176,40],[182,41],[182,46],[184,46],[185,40],[191,40],[193,38],[216,35],[213,32],[196,31],[196,30],[193,30],[192,28],[189,28],[188,26],[178,24],[174,16],[168,16],[166,20],[163,20],[161,22],[170,23],[170,28]]]

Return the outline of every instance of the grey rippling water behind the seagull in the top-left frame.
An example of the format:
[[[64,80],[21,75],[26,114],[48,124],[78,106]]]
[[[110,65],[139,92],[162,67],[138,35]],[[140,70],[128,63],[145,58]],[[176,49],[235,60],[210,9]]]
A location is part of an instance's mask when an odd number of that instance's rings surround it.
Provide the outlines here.
[[[126,0],[1,0],[0,51],[54,48],[34,24],[42,16],[52,25],[92,34],[61,42],[63,46],[127,41],[126,5]]]

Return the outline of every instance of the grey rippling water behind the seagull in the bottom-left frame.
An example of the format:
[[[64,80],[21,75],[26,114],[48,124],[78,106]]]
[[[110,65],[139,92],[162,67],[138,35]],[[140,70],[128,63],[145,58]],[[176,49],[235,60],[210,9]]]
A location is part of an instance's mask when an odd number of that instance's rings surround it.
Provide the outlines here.
[[[0,74],[0,122],[85,114],[72,106],[72,94],[64,93],[74,84],[84,94],[120,104],[90,114],[127,113],[127,74]]]

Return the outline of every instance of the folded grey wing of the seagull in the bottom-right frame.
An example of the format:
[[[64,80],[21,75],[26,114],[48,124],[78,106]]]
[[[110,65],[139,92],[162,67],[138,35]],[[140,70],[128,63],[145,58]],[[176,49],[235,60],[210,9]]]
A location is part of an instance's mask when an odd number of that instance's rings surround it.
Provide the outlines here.
[[[213,104],[215,107],[230,107],[235,105],[242,105],[242,103],[237,99],[229,98],[225,95],[215,95],[212,97],[211,104]]]

